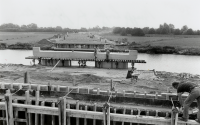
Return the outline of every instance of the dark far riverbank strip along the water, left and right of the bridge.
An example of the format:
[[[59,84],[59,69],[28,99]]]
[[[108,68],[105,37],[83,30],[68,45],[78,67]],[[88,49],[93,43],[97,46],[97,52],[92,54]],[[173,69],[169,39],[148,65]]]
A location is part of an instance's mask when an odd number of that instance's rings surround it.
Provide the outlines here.
[[[52,44],[39,45],[31,43],[16,43],[7,45],[6,43],[0,43],[0,50],[32,50],[34,46],[41,47],[42,50],[53,50]],[[111,51],[121,52],[122,50],[130,49],[137,50],[139,53],[147,54],[177,54],[177,55],[200,55],[200,49],[198,48],[181,48],[170,46],[151,46],[151,45],[132,45],[132,46],[118,46]]]

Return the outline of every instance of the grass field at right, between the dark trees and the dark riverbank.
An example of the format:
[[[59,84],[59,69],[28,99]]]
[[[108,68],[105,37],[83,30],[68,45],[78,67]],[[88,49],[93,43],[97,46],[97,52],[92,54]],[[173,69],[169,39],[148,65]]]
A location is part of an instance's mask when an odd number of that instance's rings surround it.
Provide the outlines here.
[[[145,37],[121,36],[112,33],[101,34],[110,40],[127,38],[128,42],[150,44],[151,46],[173,46],[181,48],[200,48],[200,36],[197,35],[147,35]]]

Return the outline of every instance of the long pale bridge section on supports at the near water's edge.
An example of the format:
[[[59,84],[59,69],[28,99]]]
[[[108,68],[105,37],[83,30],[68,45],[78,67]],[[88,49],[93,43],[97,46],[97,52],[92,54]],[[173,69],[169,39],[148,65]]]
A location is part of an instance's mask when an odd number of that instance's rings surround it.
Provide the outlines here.
[[[72,61],[77,61],[79,67],[85,67],[87,61],[94,61],[96,68],[128,69],[128,63],[146,63],[145,60],[136,60],[138,52],[130,50],[128,53],[110,52],[83,52],[83,51],[42,51],[39,47],[33,48],[33,56],[26,59],[37,59],[43,66],[71,67]]]

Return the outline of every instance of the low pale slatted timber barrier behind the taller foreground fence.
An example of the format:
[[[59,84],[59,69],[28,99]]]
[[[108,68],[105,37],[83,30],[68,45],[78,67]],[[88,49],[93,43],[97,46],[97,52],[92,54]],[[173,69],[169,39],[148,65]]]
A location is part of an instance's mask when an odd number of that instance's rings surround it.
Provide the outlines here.
[[[35,91],[52,91],[52,92],[70,92],[71,93],[80,93],[80,94],[94,94],[94,95],[110,95],[112,94],[115,97],[133,97],[133,98],[146,98],[146,99],[158,99],[158,100],[177,100],[176,93],[167,93],[163,92],[161,94],[155,93],[138,93],[136,91],[113,91],[113,82],[111,80],[110,89],[101,90],[100,88],[91,89],[91,88],[80,88],[80,87],[69,87],[69,86],[60,86],[60,85],[40,85],[40,84],[24,84],[24,83],[3,83],[0,82],[0,89],[11,89],[11,90],[35,90]],[[187,95],[183,95],[183,98],[186,98]]]

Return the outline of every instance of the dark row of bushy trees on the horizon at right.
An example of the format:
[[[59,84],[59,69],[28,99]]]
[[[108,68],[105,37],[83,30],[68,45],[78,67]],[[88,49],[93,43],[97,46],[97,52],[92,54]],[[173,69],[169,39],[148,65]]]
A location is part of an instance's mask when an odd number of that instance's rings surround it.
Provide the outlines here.
[[[145,34],[171,34],[171,35],[200,35],[200,30],[193,30],[188,28],[187,25],[184,25],[181,29],[175,28],[173,24],[160,24],[159,28],[124,28],[124,27],[115,27],[113,29],[114,34],[120,34],[126,36],[128,34],[132,36],[144,36]]]

